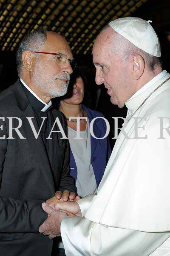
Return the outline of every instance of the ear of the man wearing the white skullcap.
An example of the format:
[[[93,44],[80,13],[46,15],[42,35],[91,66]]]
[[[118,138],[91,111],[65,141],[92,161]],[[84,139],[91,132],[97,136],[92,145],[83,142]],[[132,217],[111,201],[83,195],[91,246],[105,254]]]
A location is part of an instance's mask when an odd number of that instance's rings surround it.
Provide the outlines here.
[[[145,62],[141,55],[135,54],[133,56],[133,73],[134,80],[138,80],[144,73]]]

